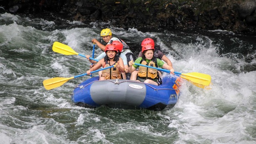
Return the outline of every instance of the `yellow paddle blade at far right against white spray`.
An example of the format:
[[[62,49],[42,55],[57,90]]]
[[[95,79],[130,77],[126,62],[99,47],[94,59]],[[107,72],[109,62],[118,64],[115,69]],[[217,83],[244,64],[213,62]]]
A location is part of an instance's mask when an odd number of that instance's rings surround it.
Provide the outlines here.
[[[198,83],[200,85],[207,86],[207,85],[210,85],[211,83],[211,76],[208,74],[193,72],[193,73],[181,73],[181,75],[183,75],[183,77],[185,76],[186,80],[189,80],[193,83]]]

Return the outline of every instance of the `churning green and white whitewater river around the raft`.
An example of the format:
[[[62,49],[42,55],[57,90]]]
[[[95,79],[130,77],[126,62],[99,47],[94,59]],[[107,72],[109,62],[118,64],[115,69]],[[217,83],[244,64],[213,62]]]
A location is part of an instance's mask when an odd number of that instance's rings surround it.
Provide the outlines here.
[[[211,89],[183,81],[181,97],[170,110],[76,106],[73,88],[89,76],[45,90],[45,79],[77,76],[90,65],[82,56],[53,52],[53,42],[91,55],[91,40],[100,40],[101,29],[109,25],[0,15],[1,144],[256,143],[255,35],[109,27],[136,54],[141,41],[151,37],[175,71],[211,75]],[[96,46],[95,55],[101,52]]]

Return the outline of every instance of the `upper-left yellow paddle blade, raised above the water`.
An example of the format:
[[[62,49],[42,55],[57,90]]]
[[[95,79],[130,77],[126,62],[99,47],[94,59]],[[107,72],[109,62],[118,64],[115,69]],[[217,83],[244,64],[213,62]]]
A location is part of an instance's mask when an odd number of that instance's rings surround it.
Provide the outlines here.
[[[60,54],[65,54],[65,55],[73,55],[73,54],[78,55],[78,53],[75,52],[71,47],[69,47],[65,44],[62,44],[58,41],[55,41],[53,43],[53,51],[60,53]]]

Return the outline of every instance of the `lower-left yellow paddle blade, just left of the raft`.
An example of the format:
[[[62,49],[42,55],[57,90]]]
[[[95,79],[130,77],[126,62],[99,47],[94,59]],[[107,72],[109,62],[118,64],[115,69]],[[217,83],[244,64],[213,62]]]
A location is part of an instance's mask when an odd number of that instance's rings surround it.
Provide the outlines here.
[[[74,77],[70,77],[70,78],[50,78],[47,80],[43,81],[43,85],[45,87],[46,90],[51,90],[53,88],[57,88],[61,85],[63,85],[65,82],[67,82],[70,79],[73,79]]]

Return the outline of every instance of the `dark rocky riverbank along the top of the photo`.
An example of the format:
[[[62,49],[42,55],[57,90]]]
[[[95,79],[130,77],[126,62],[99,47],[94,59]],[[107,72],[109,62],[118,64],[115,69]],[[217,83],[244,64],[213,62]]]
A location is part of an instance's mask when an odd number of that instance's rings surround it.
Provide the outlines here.
[[[51,12],[66,20],[124,29],[222,29],[256,32],[256,0],[0,0],[0,13]]]

